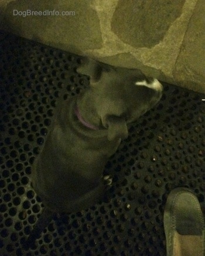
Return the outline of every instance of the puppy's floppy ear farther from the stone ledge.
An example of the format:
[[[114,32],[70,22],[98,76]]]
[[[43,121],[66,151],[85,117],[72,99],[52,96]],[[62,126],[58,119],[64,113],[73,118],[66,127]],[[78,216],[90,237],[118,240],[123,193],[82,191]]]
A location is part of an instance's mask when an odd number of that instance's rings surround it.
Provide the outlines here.
[[[111,117],[107,121],[108,125],[108,141],[114,141],[116,139],[127,139],[128,128],[125,118]]]

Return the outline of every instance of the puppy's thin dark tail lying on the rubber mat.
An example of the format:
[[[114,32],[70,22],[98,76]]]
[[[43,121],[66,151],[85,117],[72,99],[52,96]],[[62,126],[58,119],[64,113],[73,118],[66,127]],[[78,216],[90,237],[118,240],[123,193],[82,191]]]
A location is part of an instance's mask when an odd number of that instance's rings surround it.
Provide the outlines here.
[[[33,228],[32,232],[30,233],[28,240],[26,240],[25,242],[25,248],[32,247],[36,239],[40,237],[40,234],[49,225],[50,221],[52,221],[54,214],[54,211],[51,211],[47,207],[43,209],[43,212],[37,220],[37,223],[35,224],[35,227]]]

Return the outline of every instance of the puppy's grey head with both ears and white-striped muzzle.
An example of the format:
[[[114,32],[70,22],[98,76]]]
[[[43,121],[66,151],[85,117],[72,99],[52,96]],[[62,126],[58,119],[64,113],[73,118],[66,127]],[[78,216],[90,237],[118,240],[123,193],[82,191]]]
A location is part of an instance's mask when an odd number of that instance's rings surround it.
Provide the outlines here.
[[[145,77],[141,71],[95,62],[85,58],[78,73],[90,76],[93,104],[108,140],[128,136],[127,124],[152,108],[162,96],[158,80]]]

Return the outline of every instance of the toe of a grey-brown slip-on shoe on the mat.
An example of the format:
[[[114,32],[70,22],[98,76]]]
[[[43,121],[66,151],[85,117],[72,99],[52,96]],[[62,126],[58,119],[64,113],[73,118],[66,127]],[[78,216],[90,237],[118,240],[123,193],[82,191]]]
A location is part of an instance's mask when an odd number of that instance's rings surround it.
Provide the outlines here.
[[[192,190],[170,192],[164,212],[167,256],[205,256],[205,227],[200,204]]]

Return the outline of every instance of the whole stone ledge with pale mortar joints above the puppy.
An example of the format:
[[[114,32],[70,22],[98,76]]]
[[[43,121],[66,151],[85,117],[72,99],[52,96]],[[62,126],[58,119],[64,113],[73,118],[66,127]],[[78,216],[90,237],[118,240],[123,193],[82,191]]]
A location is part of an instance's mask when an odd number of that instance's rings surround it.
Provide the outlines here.
[[[205,93],[204,0],[0,0],[0,12],[16,35]]]

